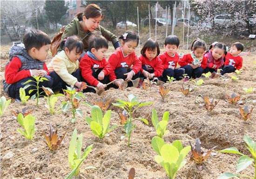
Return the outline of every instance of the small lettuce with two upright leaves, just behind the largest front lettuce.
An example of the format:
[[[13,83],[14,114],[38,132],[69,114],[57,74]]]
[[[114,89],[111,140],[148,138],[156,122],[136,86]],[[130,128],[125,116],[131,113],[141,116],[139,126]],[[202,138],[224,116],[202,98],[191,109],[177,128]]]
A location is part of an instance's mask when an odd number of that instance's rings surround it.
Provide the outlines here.
[[[169,130],[166,130],[168,121],[169,121],[169,112],[165,111],[162,116],[162,121],[158,121],[156,110],[152,110],[152,124],[155,127],[155,131],[158,137],[162,138],[165,134],[169,133]]]

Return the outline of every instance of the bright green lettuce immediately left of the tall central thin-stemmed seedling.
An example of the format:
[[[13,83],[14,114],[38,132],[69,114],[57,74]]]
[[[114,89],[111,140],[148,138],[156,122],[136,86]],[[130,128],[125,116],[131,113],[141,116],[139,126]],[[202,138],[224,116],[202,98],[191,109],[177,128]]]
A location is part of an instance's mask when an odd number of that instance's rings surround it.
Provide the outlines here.
[[[86,117],[85,120],[90,126],[94,135],[97,135],[100,139],[105,137],[106,134],[114,130],[118,125],[113,125],[109,128],[111,119],[111,110],[108,110],[104,116],[99,106],[93,106],[91,109],[91,118]]]

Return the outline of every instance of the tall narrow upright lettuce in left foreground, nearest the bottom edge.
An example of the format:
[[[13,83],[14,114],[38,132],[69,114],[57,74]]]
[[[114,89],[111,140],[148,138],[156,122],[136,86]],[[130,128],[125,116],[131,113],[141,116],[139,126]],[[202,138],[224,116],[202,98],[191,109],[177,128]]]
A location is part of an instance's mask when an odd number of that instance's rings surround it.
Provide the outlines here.
[[[93,144],[88,146],[83,153],[82,152],[82,134],[78,136],[77,139],[77,130],[74,129],[74,132],[71,136],[69,148],[68,148],[68,165],[72,171],[70,174],[71,177],[77,176],[80,172],[80,166],[82,162],[85,160],[85,158],[88,156],[90,151],[92,150]],[[91,166],[88,168],[92,168]],[[88,169],[86,168],[86,169]],[[69,176],[70,177],[70,176]],[[70,177],[70,178],[71,178]]]

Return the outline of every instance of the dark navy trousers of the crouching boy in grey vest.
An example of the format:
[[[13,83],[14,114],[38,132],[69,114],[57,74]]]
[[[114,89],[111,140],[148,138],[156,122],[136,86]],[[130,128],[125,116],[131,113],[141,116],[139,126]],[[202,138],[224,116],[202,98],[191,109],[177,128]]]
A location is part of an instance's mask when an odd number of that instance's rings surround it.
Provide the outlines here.
[[[53,83],[54,83],[53,78],[50,76],[47,76],[47,75],[44,77],[47,78],[49,81],[44,80],[44,81],[40,82],[39,87],[44,86],[44,87],[52,88]],[[27,80],[32,80],[32,82],[23,84],[23,83],[27,82]],[[20,88],[24,88],[26,85],[29,85],[29,84],[36,85],[35,79],[33,77],[23,78],[22,80],[11,84],[11,86],[8,89],[10,97],[20,100]],[[34,94],[36,94],[36,90],[34,90],[34,89],[36,89],[35,86],[29,86],[27,89],[25,89],[26,96],[33,96]],[[32,93],[28,94],[29,90],[34,90],[34,91]],[[42,91],[43,91],[43,89],[40,88],[39,93]],[[41,95],[45,95],[45,94],[42,93]]]

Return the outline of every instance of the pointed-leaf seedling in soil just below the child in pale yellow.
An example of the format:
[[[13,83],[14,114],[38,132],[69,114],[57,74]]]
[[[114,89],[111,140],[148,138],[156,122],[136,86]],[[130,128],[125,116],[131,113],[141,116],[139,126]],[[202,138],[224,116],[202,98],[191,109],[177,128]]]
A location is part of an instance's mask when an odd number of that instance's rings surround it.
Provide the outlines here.
[[[81,109],[78,109],[79,104],[81,103],[81,97],[85,97],[81,92],[77,92],[76,89],[68,87],[67,90],[64,90],[67,101],[62,102],[62,110],[66,112],[69,109],[69,106],[72,107],[73,118],[71,122],[75,121],[75,114],[82,116]]]

